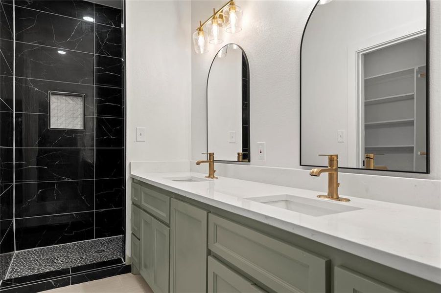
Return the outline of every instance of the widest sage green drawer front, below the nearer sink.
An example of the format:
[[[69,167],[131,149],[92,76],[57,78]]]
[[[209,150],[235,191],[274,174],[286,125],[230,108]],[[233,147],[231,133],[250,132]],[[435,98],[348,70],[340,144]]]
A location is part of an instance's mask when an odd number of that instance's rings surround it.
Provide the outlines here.
[[[276,292],[328,292],[328,259],[213,214],[209,249]]]

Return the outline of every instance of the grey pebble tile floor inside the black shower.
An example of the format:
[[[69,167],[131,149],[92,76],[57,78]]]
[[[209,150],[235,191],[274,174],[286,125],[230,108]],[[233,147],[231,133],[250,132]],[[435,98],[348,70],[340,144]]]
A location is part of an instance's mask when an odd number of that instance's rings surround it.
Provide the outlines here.
[[[88,265],[123,256],[123,236],[17,251],[6,279]]]

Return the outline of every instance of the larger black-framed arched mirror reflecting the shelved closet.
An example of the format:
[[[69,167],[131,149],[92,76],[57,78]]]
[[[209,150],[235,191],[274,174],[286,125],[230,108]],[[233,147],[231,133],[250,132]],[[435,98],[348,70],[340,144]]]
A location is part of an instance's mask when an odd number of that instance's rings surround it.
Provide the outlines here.
[[[301,165],[428,172],[426,0],[320,0],[302,38]]]

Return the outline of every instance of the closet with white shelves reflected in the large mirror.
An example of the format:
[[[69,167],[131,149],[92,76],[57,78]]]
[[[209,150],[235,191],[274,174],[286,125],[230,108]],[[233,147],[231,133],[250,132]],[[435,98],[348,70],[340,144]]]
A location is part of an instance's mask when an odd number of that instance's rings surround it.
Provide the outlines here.
[[[362,57],[362,155],[375,155],[375,169],[426,169],[425,52],[426,38],[422,34]]]

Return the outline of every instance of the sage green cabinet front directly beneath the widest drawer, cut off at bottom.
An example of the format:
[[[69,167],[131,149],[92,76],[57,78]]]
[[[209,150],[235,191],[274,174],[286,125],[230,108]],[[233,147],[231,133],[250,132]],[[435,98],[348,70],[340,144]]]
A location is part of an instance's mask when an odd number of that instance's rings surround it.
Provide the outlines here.
[[[212,256],[208,258],[208,293],[263,293],[254,283]]]

